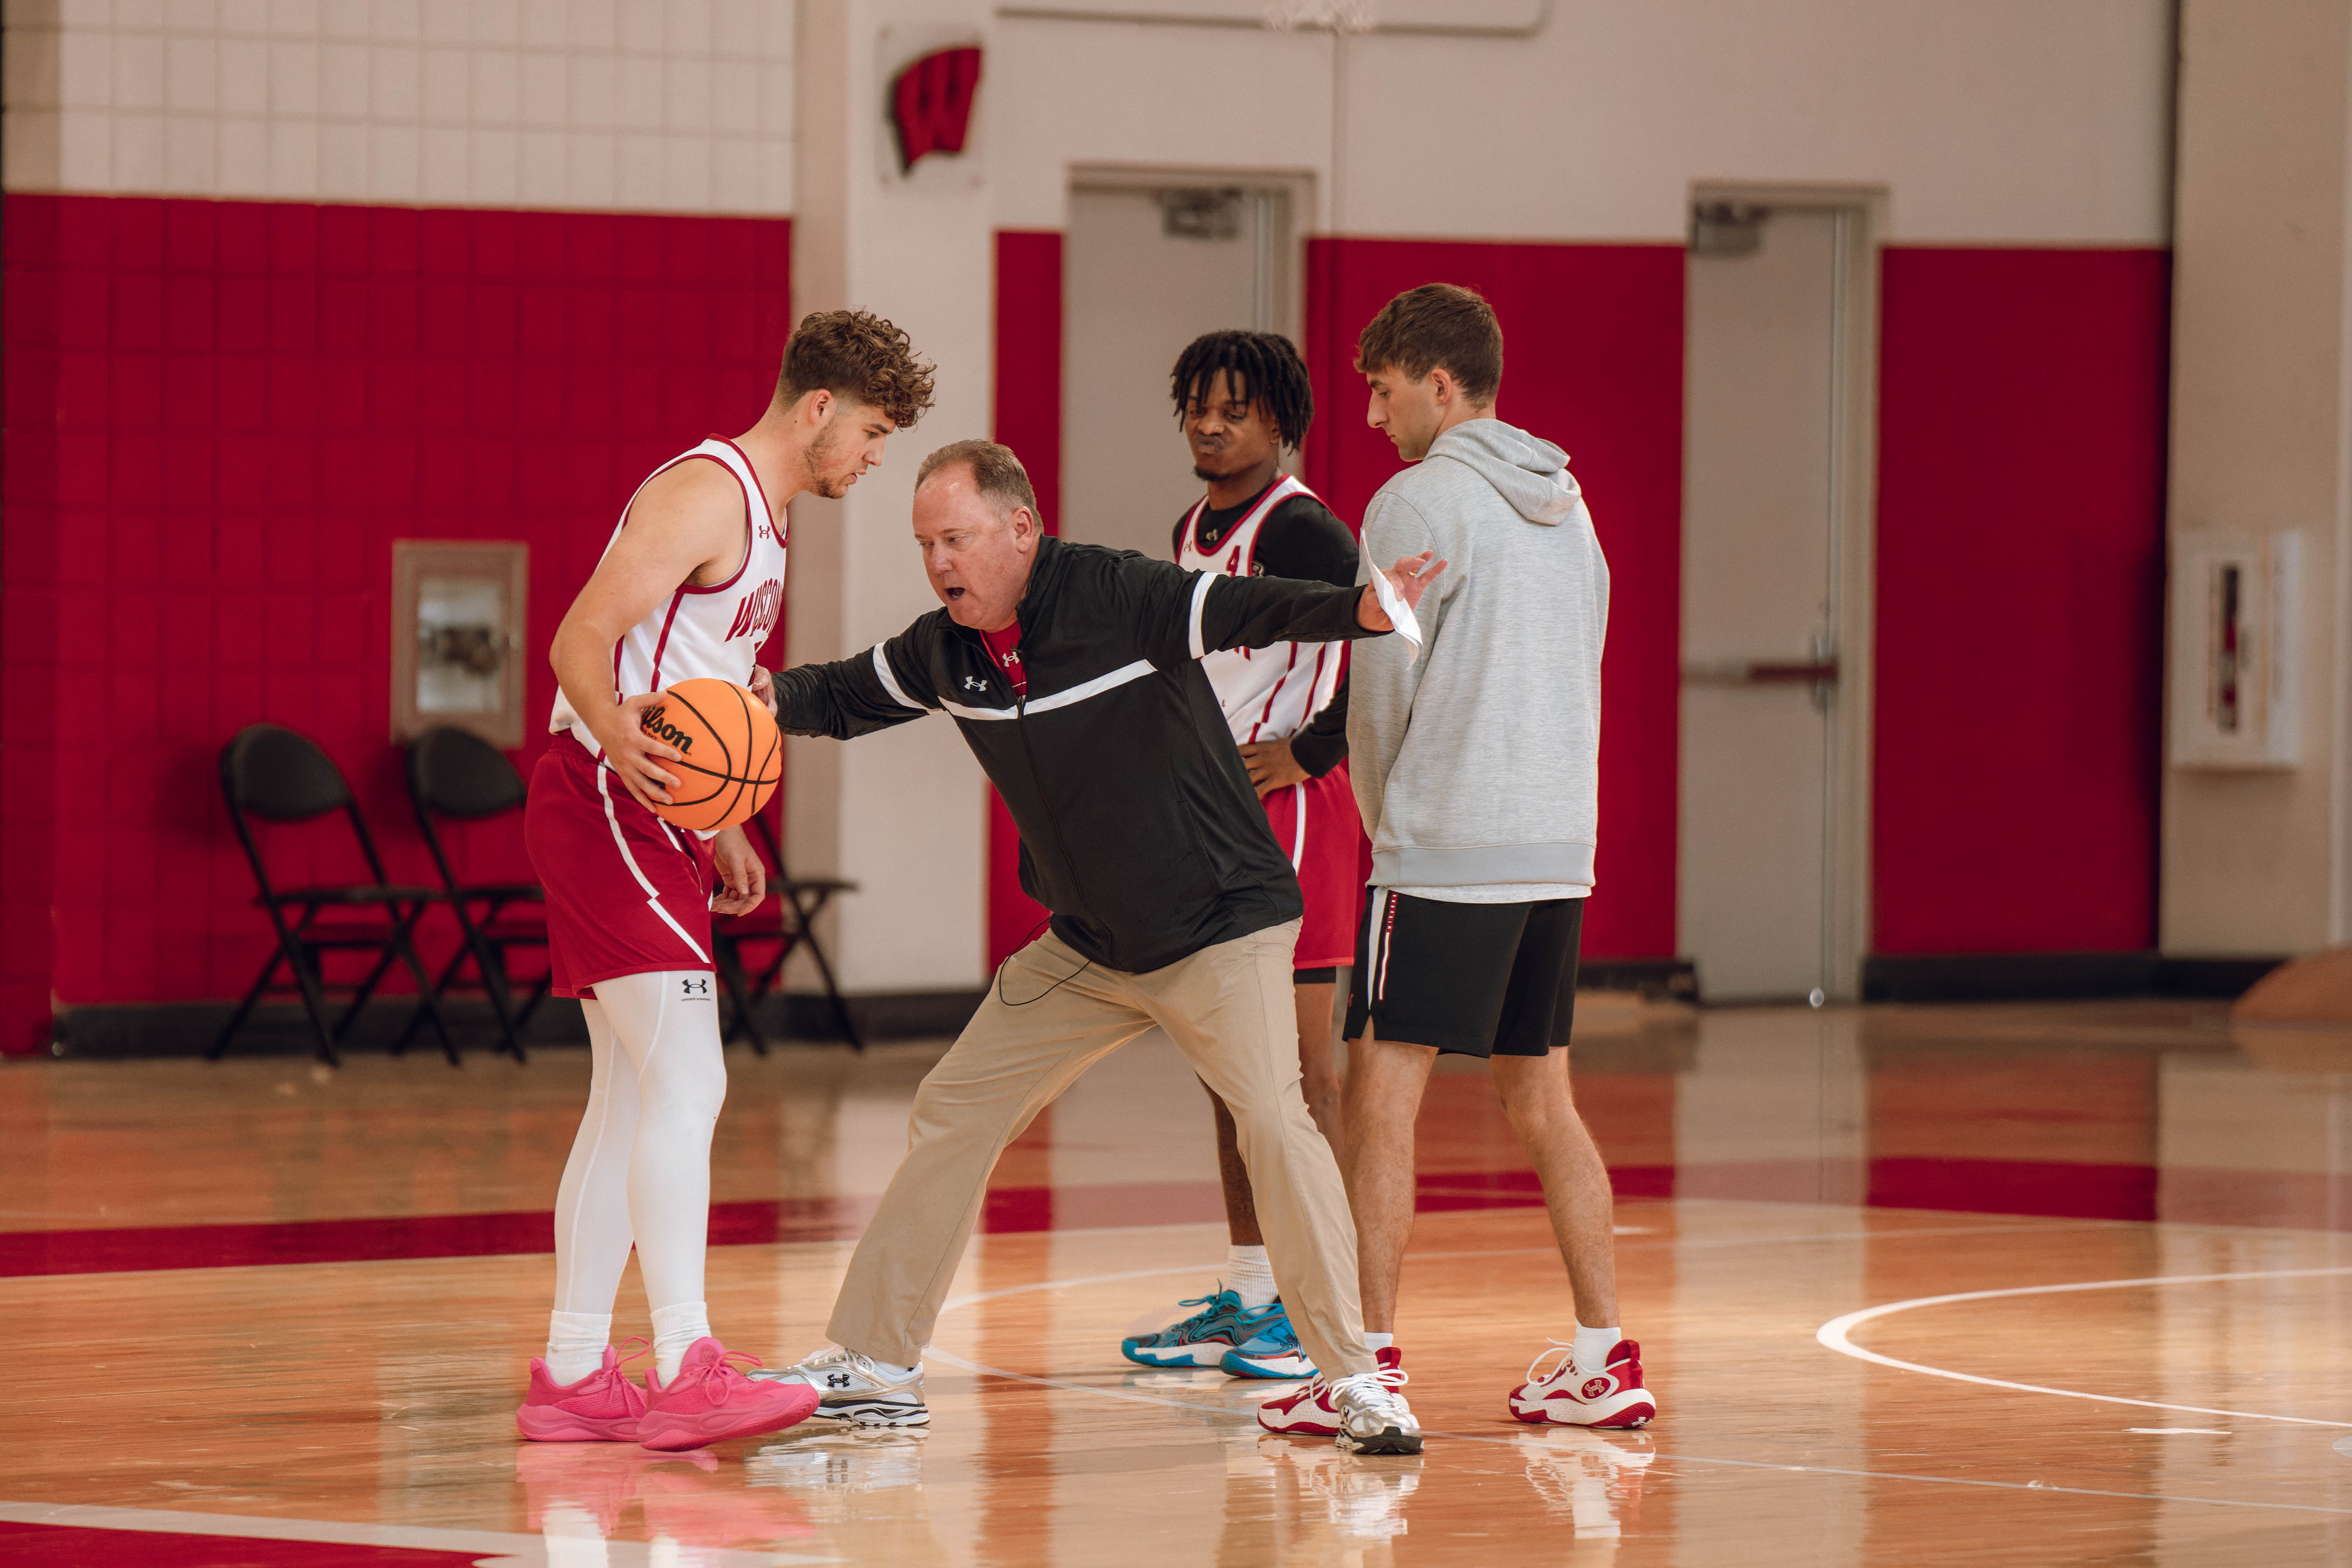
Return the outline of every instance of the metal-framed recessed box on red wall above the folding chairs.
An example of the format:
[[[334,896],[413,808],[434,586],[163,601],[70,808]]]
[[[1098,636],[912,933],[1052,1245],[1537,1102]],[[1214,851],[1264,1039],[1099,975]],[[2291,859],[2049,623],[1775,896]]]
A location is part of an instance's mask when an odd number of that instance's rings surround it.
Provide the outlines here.
[[[522,745],[522,541],[393,541],[393,741],[437,724]]]

